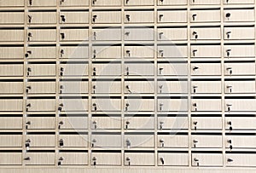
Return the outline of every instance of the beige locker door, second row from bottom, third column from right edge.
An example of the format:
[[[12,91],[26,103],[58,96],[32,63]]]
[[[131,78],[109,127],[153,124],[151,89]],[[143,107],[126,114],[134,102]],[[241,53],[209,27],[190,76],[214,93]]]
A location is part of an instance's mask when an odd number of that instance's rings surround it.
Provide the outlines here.
[[[158,147],[185,148],[189,147],[189,136],[177,134],[158,135]]]

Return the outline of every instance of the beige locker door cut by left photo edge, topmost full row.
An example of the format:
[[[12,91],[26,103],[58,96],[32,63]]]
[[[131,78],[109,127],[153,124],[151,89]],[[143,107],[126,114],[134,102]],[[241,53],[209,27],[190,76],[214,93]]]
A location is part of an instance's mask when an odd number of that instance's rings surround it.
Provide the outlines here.
[[[0,24],[23,24],[23,23],[24,23],[23,12],[0,12]]]

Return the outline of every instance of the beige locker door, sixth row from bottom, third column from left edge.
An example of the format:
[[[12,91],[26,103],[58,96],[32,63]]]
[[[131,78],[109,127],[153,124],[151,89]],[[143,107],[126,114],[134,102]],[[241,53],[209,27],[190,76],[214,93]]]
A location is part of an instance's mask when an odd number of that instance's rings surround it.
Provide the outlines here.
[[[69,77],[69,76],[87,76],[88,75],[88,64],[61,64],[60,65],[60,76]]]

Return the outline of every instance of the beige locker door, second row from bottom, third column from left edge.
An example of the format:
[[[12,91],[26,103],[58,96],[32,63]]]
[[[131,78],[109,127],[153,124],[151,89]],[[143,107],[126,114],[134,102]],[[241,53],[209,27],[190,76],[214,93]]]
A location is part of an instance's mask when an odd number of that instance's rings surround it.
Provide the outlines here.
[[[63,147],[88,147],[88,136],[79,135],[59,135],[58,141],[63,140]]]

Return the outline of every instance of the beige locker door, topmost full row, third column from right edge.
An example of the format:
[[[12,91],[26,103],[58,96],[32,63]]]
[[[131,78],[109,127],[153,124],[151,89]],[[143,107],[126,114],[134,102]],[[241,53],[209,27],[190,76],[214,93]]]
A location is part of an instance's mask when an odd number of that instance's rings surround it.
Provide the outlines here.
[[[158,11],[158,23],[187,23],[187,11],[172,10],[172,11]]]

